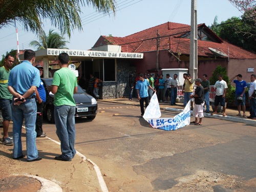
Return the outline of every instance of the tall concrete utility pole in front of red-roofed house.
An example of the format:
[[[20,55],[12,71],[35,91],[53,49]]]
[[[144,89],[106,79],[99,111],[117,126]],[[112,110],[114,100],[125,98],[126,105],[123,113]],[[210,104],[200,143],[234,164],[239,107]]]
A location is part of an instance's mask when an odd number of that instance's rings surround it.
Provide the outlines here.
[[[198,77],[197,35],[197,0],[191,0],[189,73],[192,79]]]

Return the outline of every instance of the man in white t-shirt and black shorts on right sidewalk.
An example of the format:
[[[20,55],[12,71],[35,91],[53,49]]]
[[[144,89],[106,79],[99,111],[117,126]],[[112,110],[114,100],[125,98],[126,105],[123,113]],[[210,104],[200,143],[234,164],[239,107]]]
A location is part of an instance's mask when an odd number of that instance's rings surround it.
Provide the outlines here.
[[[226,106],[225,106],[225,94],[227,91],[227,83],[222,79],[222,75],[218,75],[219,80],[215,83],[214,89],[216,89],[216,96],[214,100],[214,105],[215,105],[215,111],[211,115],[217,114],[218,110],[218,105],[219,103],[221,106],[223,106],[223,116],[226,115]]]

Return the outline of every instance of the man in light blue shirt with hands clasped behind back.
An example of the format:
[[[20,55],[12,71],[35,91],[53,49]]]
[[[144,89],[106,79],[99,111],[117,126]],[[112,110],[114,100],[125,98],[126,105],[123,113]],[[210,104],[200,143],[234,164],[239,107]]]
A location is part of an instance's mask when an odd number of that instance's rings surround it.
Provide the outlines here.
[[[38,156],[35,132],[35,90],[40,85],[40,75],[39,70],[32,66],[35,62],[35,52],[26,50],[24,59],[11,70],[8,80],[8,90],[13,95],[13,159],[25,157],[22,153],[22,125],[25,119],[27,161],[32,162],[42,159]]]

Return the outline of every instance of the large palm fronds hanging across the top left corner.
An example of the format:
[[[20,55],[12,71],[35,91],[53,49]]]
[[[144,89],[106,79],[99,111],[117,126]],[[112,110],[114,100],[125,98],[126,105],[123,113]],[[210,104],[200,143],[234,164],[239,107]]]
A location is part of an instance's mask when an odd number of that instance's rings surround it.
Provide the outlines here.
[[[70,37],[74,29],[82,30],[80,7],[86,4],[99,12],[115,12],[115,0],[0,0],[0,29],[18,22],[26,31],[40,34],[43,21],[50,19],[61,34]]]

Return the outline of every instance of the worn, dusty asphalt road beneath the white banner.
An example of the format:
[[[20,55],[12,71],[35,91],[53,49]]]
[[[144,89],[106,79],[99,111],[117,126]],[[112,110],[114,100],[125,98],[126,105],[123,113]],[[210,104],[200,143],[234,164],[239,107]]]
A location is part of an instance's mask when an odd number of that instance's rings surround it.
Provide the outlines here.
[[[254,126],[203,118],[202,126],[162,131],[138,106],[99,101],[98,112],[93,121],[76,119],[76,150],[99,166],[110,191],[256,189]],[[54,126],[44,131],[58,140]]]

